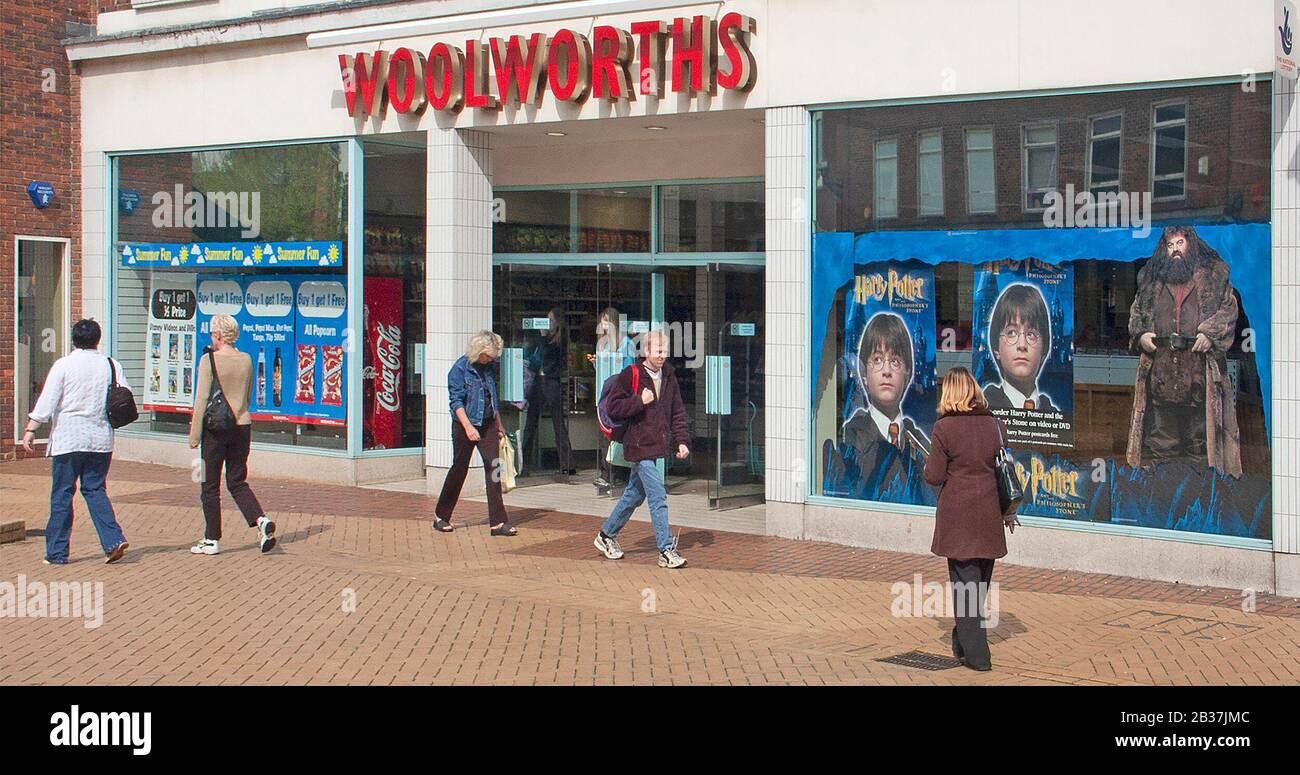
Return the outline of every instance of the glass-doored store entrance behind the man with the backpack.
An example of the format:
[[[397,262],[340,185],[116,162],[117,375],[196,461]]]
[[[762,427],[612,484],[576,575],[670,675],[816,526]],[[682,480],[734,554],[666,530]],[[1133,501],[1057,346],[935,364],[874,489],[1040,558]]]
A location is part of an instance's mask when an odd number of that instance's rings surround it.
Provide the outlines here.
[[[523,455],[521,486],[564,481],[618,495],[595,421],[601,385],[641,335],[667,332],[692,455],[664,460],[670,492],[711,507],[763,497],[763,268],[711,263],[500,264],[494,328],[506,339],[502,417]],[[517,374],[512,377],[511,374]]]

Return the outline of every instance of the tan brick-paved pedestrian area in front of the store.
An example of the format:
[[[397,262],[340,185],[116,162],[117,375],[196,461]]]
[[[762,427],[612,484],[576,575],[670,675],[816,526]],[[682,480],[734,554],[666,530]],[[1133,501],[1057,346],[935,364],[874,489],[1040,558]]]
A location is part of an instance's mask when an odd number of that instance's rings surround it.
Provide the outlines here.
[[[993,672],[880,662],[946,653],[949,619],[890,615],[894,583],[945,581],[939,558],[685,528],[690,564],[655,564],[633,521],[620,562],[599,519],[481,503],[429,528],[424,495],[257,480],[280,546],[225,501],[222,553],[195,557],[188,469],[117,462],[109,493],[131,550],[103,564],[77,501],[73,560],[40,563],[48,463],[0,464],[0,585],[103,583],[103,625],[0,619],[3,684],[1296,684],[1300,603],[1000,564]],[[671,503],[670,503],[671,507]],[[1028,529],[1028,528],[1024,528]],[[3,594],[3,593],[0,593]]]

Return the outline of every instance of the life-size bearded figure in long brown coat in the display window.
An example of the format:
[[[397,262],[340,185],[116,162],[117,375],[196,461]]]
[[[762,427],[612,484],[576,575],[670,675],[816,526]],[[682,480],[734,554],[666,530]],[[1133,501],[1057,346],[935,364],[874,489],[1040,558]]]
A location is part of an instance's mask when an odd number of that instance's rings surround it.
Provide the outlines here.
[[[1169,226],[1138,272],[1128,315],[1139,352],[1130,466],[1183,460],[1242,476],[1227,351],[1239,313],[1228,265],[1191,226]]]

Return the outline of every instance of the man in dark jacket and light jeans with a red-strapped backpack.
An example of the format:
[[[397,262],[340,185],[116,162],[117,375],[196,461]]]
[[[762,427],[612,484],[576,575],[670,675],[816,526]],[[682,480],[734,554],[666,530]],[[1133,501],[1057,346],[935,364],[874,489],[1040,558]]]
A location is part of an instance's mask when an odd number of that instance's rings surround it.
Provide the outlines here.
[[[647,332],[644,334],[642,351],[645,358],[619,374],[608,401],[610,417],[624,423],[620,428],[623,456],[632,463],[632,472],[623,497],[614,505],[614,511],[595,536],[595,547],[610,559],[621,558],[619,531],[628,524],[637,506],[649,498],[650,523],[659,546],[659,567],[680,568],[686,560],[677,554],[668,529],[668,493],[663,488],[658,459],[667,458],[673,450],[679,459],[690,454],[686,408],[681,403],[677,378],[667,363],[667,335],[658,330]],[[633,373],[637,390],[632,389]]]

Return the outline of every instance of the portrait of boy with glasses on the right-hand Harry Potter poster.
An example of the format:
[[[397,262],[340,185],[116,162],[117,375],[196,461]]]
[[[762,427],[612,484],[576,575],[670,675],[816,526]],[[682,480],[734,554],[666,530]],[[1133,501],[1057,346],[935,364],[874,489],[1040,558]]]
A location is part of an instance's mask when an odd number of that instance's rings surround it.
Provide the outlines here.
[[[989,408],[1057,411],[1052,397],[1039,390],[1052,352],[1052,320],[1043,291],[1023,282],[1006,286],[993,304],[988,339],[1002,377],[1001,384],[984,386]]]

